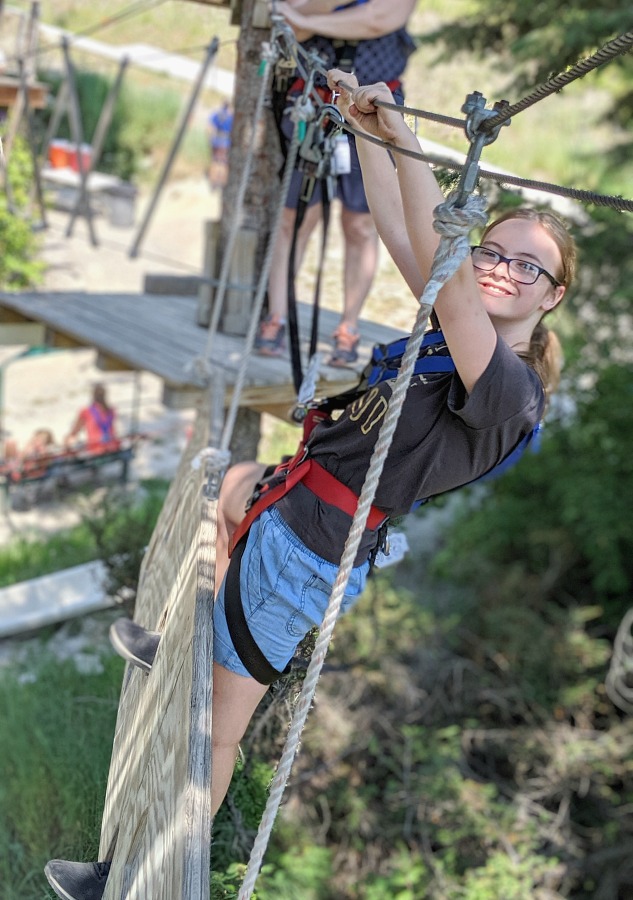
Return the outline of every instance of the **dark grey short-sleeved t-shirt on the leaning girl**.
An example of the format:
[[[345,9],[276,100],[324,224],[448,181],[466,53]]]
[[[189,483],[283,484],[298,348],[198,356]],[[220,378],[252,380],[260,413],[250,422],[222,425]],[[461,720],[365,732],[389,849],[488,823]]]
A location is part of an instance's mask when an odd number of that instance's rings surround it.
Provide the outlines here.
[[[319,425],[310,456],[360,494],[391,397],[393,381],[370,389],[336,421]],[[387,516],[409,512],[416,500],[461,487],[484,475],[538,424],[544,391],[536,373],[499,338],[470,394],[457,373],[416,375],[378,484],[374,505]],[[277,503],[292,530],[315,553],[338,564],[351,519],[302,484]],[[356,560],[367,558],[375,532],[366,532]]]

